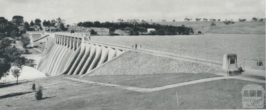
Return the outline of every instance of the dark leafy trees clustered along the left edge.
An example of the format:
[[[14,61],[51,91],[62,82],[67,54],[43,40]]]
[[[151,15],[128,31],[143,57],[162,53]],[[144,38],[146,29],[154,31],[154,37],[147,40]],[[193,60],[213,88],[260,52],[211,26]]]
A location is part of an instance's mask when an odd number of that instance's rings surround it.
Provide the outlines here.
[[[34,67],[36,64],[33,59],[27,59],[22,55],[23,51],[17,49],[15,46],[11,47],[11,43],[8,37],[19,39],[21,37],[23,47],[29,44],[28,37],[22,36],[24,31],[18,29],[18,25],[24,22],[23,17],[15,16],[12,21],[8,21],[5,17],[0,17],[0,24],[4,26],[0,27],[0,80],[2,77],[11,74],[17,78],[20,76],[23,66]],[[11,68],[12,67],[12,68]],[[18,81],[17,81],[18,83]]]

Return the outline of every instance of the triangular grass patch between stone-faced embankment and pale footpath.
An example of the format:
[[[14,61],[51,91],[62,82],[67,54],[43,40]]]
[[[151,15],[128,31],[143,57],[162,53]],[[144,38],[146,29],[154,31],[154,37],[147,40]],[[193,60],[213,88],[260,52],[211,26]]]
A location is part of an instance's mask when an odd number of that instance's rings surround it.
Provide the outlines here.
[[[72,76],[70,76],[72,77]],[[76,75],[74,75],[76,77]],[[124,86],[134,86],[140,88],[156,88],[160,86],[188,82],[198,79],[211,77],[220,77],[219,75],[210,73],[166,73],[166,74],[150,74],[150,75],[98,75],[85,76],[85,80],[111,83]],[[76,77],[84,79],[84,77]]]

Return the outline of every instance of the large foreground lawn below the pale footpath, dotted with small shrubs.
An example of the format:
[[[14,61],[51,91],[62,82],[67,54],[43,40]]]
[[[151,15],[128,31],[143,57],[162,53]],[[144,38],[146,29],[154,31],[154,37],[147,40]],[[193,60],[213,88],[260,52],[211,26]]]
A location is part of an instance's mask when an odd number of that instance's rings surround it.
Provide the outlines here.
[[[14,83],[0,83],[2,109],[243,109],[240,93],[243,86],[265,87],[265,83],[225,79],[141,93],[72,81],[62,76]],[[39,84],[44,87],[42,100],[34,99],[32,83],[36,88]],[[183,103],[179,107],[176,91],[179,104]]]

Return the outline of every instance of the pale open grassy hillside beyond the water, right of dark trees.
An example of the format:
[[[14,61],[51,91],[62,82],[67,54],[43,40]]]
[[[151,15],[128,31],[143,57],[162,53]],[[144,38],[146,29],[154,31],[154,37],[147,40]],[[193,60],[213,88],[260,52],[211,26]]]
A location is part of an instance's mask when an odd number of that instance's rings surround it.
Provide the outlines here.
[[[148,22],[149,24],[153,22]],[[162,25],[174,25],[192,27],[194,32],[202,33],[230,33],[230,34],[265,34],[265,21],[247,21],[235,22],[235,24],[226,25],[222,21],[182,21],[182,22],[155,22]],[[211,26],[215,23],[216,26]],[[202,27],[203,26],[203,27]]]

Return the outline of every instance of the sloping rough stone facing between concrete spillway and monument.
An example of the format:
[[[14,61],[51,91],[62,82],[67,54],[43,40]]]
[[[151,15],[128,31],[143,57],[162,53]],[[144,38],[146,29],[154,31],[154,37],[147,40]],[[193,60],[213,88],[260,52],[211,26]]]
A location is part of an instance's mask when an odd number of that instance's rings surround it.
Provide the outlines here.
[[[139,75],[176,72],[219,73],[220,68],[131,51],[91,75]]]

